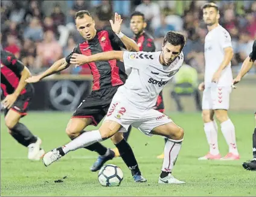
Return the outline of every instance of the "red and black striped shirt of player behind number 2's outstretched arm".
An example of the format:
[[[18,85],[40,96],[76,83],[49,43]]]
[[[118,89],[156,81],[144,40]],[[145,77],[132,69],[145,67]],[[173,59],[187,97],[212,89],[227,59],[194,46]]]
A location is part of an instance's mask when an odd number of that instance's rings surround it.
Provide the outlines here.
[[[96,36],[92,40],[85,40],[77,45],[71,54],[66,57],[69,63],[73,53],[83,55],[94,55],[106,51],[120,51],[121,48],[126,49],[124,43],[117,37],[114,31],[109,28],[97,30]],[[123,85],[127,79],[124,72],[123,63],[117,60],[96,61],[88,63],[91,69],[93,80],[92,90],[100,90],[112,86]]]

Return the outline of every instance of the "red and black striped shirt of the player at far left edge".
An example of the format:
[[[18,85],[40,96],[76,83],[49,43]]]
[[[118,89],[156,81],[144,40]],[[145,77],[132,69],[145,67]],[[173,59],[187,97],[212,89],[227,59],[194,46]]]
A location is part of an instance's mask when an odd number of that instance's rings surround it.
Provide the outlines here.
[[[1,89],[4,96],[12,94],[19,85],[24,65],[8,51],[1,50]],[[31,84],[21,91],[21,95],[32,95],[34,88]]]

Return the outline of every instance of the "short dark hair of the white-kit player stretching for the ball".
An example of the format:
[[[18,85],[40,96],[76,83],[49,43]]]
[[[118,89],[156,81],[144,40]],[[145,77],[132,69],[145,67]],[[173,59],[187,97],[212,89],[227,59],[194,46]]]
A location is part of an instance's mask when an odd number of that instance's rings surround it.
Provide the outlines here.
[[[182,49],[186,45],[186,38],[184,34],[178,31],[168,31],[167,34],[165,34],[164,36],[164,42],[162,44],[165,45],[167,42],[174,46],[181,45],[182,51]]]

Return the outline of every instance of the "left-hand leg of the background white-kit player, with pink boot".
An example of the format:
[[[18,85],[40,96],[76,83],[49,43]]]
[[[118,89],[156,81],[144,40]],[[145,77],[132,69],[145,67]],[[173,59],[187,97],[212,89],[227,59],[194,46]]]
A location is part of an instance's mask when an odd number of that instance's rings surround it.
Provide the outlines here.
[[[213,102],[211,97],[211,90],[205,89],[202,98],[202,119],[203,130],[210,147],[210,151],[199,160],[217,160],[221,158],[218,146],[218,127],[216,121],[213,119],[214,111],[211,110]]]

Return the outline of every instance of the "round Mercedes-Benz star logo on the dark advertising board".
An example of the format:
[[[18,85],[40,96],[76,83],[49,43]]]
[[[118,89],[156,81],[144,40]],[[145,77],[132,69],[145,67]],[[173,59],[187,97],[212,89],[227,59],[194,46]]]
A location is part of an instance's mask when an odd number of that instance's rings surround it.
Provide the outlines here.
[[[78,87],[72,81],[57,81],[50,90],[51,104],[57,110],[75,110],[83,92],[87,88],[87,83],[83,83]]]

